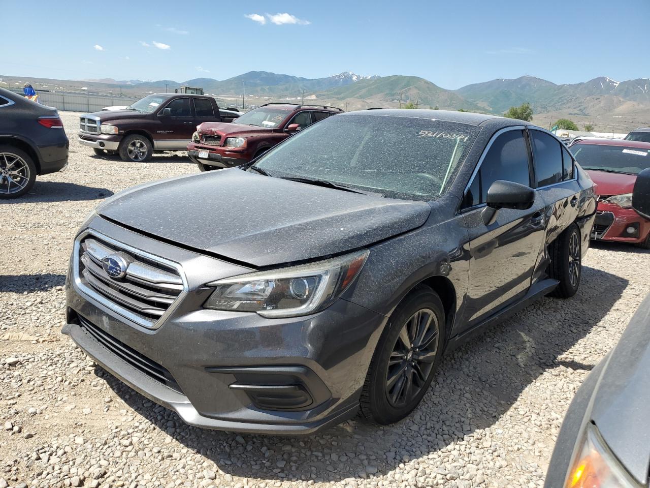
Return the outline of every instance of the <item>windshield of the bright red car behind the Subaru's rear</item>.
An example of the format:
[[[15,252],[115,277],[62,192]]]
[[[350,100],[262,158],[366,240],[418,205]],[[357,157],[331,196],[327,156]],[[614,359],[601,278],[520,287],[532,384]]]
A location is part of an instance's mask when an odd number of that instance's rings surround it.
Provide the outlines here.
[[[604,144],[574,144],[571,152],[582,169],[639,174],[650,167],[650,149]]]

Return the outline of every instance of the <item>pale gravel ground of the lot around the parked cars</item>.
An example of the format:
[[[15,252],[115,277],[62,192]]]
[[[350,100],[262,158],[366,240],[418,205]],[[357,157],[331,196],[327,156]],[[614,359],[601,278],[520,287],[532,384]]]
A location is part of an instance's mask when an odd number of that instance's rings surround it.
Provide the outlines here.
[[[102,198],[197,172],[96,157],[62,113],[70,166],[0,203],[0,488],[537,487],[562,417],[650,291],[650,253],[598,245],[567,301],[543,299],[443,360],[420,407],[305,438],[188,427],[73,346],[64,324],[72,240]]]

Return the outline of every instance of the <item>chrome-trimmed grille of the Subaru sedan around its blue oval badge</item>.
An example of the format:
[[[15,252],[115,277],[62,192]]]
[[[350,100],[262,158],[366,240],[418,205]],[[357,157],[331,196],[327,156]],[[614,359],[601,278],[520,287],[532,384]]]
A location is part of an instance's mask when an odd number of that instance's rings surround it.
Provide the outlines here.
[[[171,266],[93,235],[81,239],[78,246],[75,278],[79,283],[145,327],[153,327],[184,289],[183,279]],[[125,276],[119,279],[110,277],[102,265],[104,258],[117,253],[129,258]]]

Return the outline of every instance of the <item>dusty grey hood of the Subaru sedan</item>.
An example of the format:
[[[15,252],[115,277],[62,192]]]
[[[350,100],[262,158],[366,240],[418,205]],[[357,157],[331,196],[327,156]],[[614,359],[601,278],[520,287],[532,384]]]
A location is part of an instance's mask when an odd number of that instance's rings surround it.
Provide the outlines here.
[[[237,168],[116,195],[103,215],[253,267],[359,249],[424,224],[426,202],[361,195]]]

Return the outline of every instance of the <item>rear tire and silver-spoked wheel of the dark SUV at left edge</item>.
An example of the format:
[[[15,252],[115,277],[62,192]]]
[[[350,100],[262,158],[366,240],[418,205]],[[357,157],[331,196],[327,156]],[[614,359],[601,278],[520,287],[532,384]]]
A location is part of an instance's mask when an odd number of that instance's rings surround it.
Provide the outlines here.
[[[34,186],[36,165],[14,146],[0,145],[0,200],[22,197]]]

